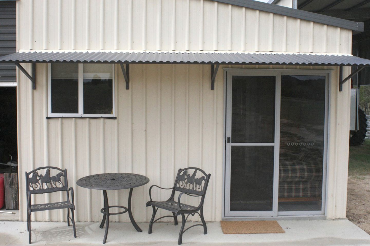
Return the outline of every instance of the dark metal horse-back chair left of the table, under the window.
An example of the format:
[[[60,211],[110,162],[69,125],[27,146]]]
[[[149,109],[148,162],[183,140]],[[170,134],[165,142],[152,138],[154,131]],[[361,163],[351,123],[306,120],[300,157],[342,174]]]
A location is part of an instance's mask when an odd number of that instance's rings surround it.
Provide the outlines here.
[[[45,174],[39,174],[39,170],[45,169]],[[55,176],[50,175],[50,170],[53,170]],[[63,177],[63,179],[61,178]],[[44,204],[31,204],[32,194],[44,194],[56,191],[66,191],[67,201],[51,202]],[[71,200],[69,198],[71,191]],[[26,172],[26,195],[27,195],[27,231],[28,243],[31,243],[31,213],[37,211],[64,209],[67,208],[67,225],[70,226],[70,220],[73,225],[74,237],[76,237],[76,226],[74,223],[74,193],[73,187],[68,188],[67,169],[58,167],[39,167],[30,172]],[[70,217],[70,210],[72,218]]]

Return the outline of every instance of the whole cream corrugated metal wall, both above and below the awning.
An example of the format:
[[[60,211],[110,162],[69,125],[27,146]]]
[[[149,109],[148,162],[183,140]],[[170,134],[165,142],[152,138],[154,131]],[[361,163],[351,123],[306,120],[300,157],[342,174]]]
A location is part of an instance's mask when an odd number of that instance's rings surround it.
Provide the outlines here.
[[[349,30],[208,0],[18,1],[17,28],[18,50],[351,50]],[[30,70],[30,65],[24,66]],[[150,183],[135,188],[133,199],[135,219],[148,221],[151,211],[144,205],[149,199],[149,185],[171,187],[176,170],[185,166],[199,166],[212,173],[205,218],[221,220],[221,67],[212,91],[209,65],[131,65],[130,89],[125,90],[120,67],[116,65],[116,120],[46,119],[47,65],[37,65],[36,90],[18,71],[20,219],[26,219],[24,171],[51,165],[68,169],[69,184],[75,188],[77,221],[100,220],[103,206],[101,191],[75,185],[80,177],[116,171],[148,176]],[[345,75],[349,71],[345,69]],[[347,187],[349,83],[339,93],[337,75],[336,69],[330,82],[328,218],[343,218],[346,213],[343,191]],[[127,195],[127,191],[110,192],[110,204],[124,205]],[[157,195],[165,199],[167,193]],[[40,195],[34,202],[56,198],[62,197]],[[65,221],[65,217],[65,211],[46,211],[34,213],[32,219]],[[112,220],[127,221],[128,216],[112,216]]]

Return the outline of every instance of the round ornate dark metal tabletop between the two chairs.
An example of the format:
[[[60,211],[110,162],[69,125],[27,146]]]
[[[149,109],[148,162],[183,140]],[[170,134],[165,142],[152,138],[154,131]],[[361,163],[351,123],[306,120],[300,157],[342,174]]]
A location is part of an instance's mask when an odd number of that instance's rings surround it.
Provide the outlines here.
[[[143,186],[148,177],[135,173],[101,173],[77,180],[77,185],[95,190],[121,190]]]

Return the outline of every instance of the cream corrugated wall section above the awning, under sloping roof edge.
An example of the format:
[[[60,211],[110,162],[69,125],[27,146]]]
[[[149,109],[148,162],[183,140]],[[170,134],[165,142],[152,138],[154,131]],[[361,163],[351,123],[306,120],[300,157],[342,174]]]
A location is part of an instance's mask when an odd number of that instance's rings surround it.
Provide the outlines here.
[[[351,31],[209,0],[18,1],[19,50],[344,52]]]

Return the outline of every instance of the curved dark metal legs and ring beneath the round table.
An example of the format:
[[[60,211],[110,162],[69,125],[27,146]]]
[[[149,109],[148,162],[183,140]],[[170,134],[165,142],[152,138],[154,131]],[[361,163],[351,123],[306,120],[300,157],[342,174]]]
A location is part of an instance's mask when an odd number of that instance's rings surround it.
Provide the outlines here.
[[[136,231],[138,232],[142,232],[142,229],[140,229],[140,227],[138,226],[138,224],[136,224],[135,222],[135,219],[134,219],[134,216],[132,216],[132,211],[131,211],[131,197],[132,197],[132,189],[130,189],[130,192],[129,192],[129,195],[128,195],[128,207],[124,207],[124,206],[118,206],[118,205],[115,205],[115,206],[110,206],[108,204],[108,196],[107,196],[107,190],[103,190],[103,197],[104,197],[104,208],[102,208],[100,210],[100,212],[102,212],[103,215],[103,219],[100,223],[100,228],[103,228],[104,227],[104,224],[105,222],[107,222],[107,225],[105,226],[105,233],[104,233],[104,239],[103,239],[103,243],[107,242],[107,236],[108,236],[108,229],[109,229],[109,216],[110,215],[118,215],[118,214],[124,214],[125,212],[128,212],[128,216],[131,220],[131,223],[132,225],[134,226],[134,228],[136,229]],[[117,212],[117,213],[110,213],[109,212],[109,209],[110,208],[123,208],[125,209],[124,211],[122,212]]]

